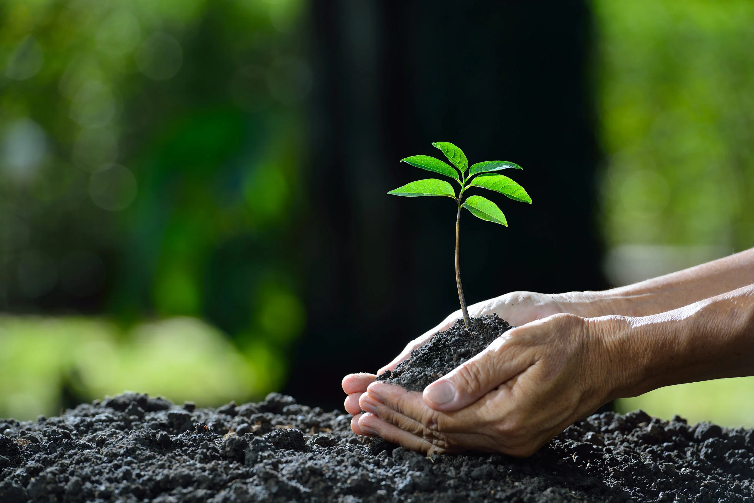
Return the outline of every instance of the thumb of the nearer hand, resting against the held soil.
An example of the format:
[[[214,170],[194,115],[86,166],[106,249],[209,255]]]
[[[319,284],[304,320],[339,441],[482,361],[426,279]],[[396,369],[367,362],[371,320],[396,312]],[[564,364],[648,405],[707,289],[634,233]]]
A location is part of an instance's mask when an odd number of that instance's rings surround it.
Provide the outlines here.
[[[521,354],[510,347],[507,340],[507,337],[495,340],[483,352],[427,386],[423,397],[428,407],[440,412],[462,409],[535,362],[527,358],[526,352]]]

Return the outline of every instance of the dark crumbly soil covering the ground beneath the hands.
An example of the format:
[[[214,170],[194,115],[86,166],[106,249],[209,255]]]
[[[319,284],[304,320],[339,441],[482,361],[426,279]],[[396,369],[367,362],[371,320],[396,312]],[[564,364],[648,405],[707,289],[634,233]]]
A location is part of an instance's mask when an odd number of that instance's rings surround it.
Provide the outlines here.
[[[751,430],[603,413],[529,459],[427,458],[350,419],[276,393],[217,409],[129,393],[0,419],[0,501],[752,501]]]

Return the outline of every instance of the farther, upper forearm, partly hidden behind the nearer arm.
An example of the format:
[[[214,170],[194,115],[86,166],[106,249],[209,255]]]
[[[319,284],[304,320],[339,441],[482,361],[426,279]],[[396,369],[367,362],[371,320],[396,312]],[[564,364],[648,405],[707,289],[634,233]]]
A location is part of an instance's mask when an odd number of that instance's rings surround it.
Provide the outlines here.
[[[605,291],[553,295],[563,312],[584,317],[649,316],[754,283],[754,248],[643,282]]]

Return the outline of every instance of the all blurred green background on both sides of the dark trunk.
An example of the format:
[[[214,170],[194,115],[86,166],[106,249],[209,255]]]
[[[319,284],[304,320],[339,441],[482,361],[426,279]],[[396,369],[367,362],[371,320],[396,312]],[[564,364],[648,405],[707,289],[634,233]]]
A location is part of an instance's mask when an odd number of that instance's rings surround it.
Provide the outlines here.
[[[313,5],[0,0],[0,417],[283,388],[312,316]],[[754,245],[754,4],[586,6],[608,282]],[[617,407],[754,425],[745,404],[754,379]]]

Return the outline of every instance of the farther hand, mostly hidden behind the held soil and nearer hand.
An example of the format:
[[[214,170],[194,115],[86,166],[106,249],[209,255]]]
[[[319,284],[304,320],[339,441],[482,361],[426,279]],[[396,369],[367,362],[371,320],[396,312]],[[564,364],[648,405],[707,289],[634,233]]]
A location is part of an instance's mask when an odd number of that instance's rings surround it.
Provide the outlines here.
[[[495,312],[498,317],[504,319],[510,325],[526,325],[526,323],[532,322],[535,319],[546,318],[558,312],[563,312],[561,306],[562,299],[560,297],[562,295],[538,294],[533,291],[513,291],[509,294],[469,306],[468,311],[469,316],[482,316],[483,314],[492,314]],[[409,357],[413,349],[421,346],[421,344],[425,343],[426,340],[437,332],[446,331],[456,320],[461,318],[461,309],[458,309],[458,311],[453,312],[444,319],[440,325],[408,343],[403,348],[403,351],[397,357],[393,358],[393,361],[379,369],[376,375],[372,373],[351,373],[345,376],[342,382],[343,391],[348,395],[345,398],[345,410],[357,416],[361,410],[359,407],[359,398],[366,391],[366,387],[375,382],[377,375],[385,372],[385,370],[393,370],[397,364]],[[357,434],[361,434],[358,429],[358,417],[355,417],[351,421],[351,428]]]

